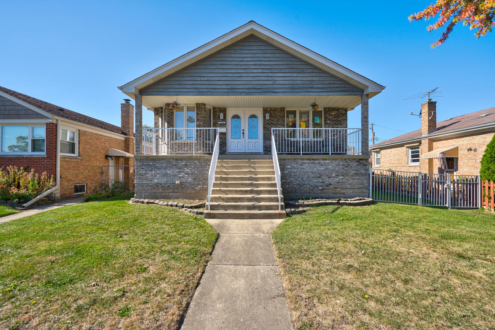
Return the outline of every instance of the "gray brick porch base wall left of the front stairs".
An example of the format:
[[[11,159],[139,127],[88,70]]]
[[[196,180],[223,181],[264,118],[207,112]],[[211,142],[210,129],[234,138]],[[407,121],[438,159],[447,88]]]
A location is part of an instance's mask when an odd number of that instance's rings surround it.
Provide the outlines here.
[[[210,163],[205,155],[136,156],[135,198],[205,198]]]

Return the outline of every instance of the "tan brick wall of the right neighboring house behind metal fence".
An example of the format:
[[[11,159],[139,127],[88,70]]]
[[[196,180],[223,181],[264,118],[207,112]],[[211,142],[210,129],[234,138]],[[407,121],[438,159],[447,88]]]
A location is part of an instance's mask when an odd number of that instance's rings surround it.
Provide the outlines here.
[[[478,175],[480,173],[480,161],[485,152],[488,142],[490,142],[495,134],[494,131],[485,133],[473,133],[458,136],[455,138],[444,139],[425,139],[420,143],[420,155],[422,156],[428,148],[425,147],[427,140],[432,140],[430,150],[458,146],[459,157],[457,159],[457,171],[458,175]],[[467,151],[468,148],[478,149],[478,151]],[[404,146],[381,148],[382,159],[381,166],[375,166],[375,159],[373,157],[373,168],[382,170],[395,170],[395,171],[410,171],[410,172],[423,172],[423,173],[438,173],[437,158],[430,158],[431,165],[428,166],[428,159],[420,158],[419,166],[407,165],[407,148]]]

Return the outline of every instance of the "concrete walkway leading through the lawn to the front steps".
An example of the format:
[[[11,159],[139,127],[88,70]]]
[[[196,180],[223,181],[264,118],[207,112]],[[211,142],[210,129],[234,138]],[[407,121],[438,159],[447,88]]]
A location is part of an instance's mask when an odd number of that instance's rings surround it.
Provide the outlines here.
[[[293,330],[270,232],[283,219],[206,219],[219,233],[182,330]]]

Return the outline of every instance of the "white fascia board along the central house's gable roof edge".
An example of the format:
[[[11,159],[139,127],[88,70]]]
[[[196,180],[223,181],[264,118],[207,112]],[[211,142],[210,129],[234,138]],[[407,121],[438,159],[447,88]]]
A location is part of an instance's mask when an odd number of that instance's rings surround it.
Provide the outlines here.
[[[176,59],[148,72],[147,74],[144,74],[143,76],[123,85],[123,86],[120,86],[118,87],[119,90],[121,90],[122,92],[124,92],[125,94],[128,94],[128,93],[135,93],[135,87],[138,86],[138,85],[141,85],[145,82],[147,82],[148,80],[152,79],[153,77],[159,75],[159,74],[162,74],[163,72],[167,71],[167,70],[170,70],[172,68],[174,68],[175,66],[177,65],[180,65],[181,63],[184,63],[185,61],[188,61],[196,56],[199,56],[202,52],[205,52],[207,51],[208,49],[211,49],[213,47],[216,47],[220,44],[223,44],[223,43],[227,43],[230,39],[232,38],[235,38],[236,36],[240,35],[240,34],[243,34],[245,32],[249,32],[249,30],[255,30],[269,38],[272,38],[284,45],[287,45],[288,47],[291,47],[293,48],[294,50],[296,50],[297,52],[300,52],[301,54],[304,54],[308,57],[311,57],[319,62],[321,62],[322,64],[338,71],[338,72],[341,72],[343,73],[344,75],[346,75],[347,77],[351,78],[351,79],[354,79],[358,82],[360,82],[361,84],[365,85],[366,88],[365,90],[367,91],[365,94],[368,94],[368,93],[380,93],[383,89],[385,89],[385,86],[382,86],[378,83],[375,83],[374,81],[366,78],[366,77],[363,77],[359,74],[357,74],[356,72],[350,70],[350,69],[347,69],[346,67],[306,48],[306,47],[303,47],[295,42],[293,42],[292,40],[289,40],[281,35],[279,35],[278,33],[275,33],[267,28],[265,28],[264,26],[261,26],[259,25],[258,23],[256,22],[248,22],[247,24],[235,29],[235,30],[232,30],[231,32],[229,33],[226,33],[224,34],[223,36],[213,40],[213,41],[210,41],[209,43],[206,43],[204,44],[203,46],[200,46],[182,56],[179,56],[177,57]],[[128,94],[129,95],[129,94]]]

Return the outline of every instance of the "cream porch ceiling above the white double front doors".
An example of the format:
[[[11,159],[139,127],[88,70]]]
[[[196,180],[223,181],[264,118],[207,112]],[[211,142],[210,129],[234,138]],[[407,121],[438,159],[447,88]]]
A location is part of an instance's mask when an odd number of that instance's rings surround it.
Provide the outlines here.
[[[143,106],[152,109],[165,106],[175,100],[182,104],[205,103],[210,106],[227,108],[285,107],[305,108],[316,100],[320,107],[354,109],[361,104],[360,95],[253,95],[253,96],[168,96],[143,95]]]

